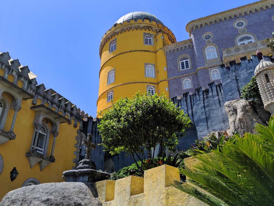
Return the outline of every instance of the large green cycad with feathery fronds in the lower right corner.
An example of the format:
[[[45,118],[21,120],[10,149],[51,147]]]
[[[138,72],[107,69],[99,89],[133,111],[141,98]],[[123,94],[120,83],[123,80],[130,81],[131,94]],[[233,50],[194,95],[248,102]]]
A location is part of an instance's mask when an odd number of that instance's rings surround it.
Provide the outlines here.
[[[274,119],[255,129],[256,135],[237,136],[222,149],[195,156],[200,163],[180,169],[188,183],[174,186],[209,205],[274,205]]]

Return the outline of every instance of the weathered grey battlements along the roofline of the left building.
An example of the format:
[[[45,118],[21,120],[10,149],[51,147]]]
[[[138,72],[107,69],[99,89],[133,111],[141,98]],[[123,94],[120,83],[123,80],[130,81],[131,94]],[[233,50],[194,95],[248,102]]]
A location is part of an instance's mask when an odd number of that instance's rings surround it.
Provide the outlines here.
[[[74,127],[77,127],[78,122],[82,127],[83,118],[89,115],[53,89],[46,89],[44,84],[37,85],[36,78],[32,77],[35,75],[30,72],[28,66],[21,65],[18,59],[12,60],[9,52],[0,53],[0,78],[2,81],[23,93],[23,99],[33,99],[33,105],[43,104],[68,118],[69,124],[73,120]],[[39,101],[37,101],[38,99]]]

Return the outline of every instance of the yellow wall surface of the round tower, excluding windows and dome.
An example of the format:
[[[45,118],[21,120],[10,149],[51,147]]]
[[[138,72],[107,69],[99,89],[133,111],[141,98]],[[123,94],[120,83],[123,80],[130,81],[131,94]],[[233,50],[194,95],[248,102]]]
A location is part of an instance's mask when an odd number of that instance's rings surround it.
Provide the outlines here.
[[[154,26],[153,29],[130,29],[129,25]],[[125,28],[120,32],[121,29]],[[132,27],[131,27],[132,28]],[[117,31],[118,34],[113,35]],[[117,33],[116,32],[116,33]],[[144,45],[143,34],[153,34],[153,45]],[[163,36],[163,39],[162,39]],[[171,38],[170,38],[171,37]],[[116,39],[116,50],[109,53],[109,43]],[[155,93],[165,93],[168,96],[168,83],[166,57],[162,50],[163,46],[171,44],[171,40],[176,41],[174,34],[162,24],[150,23],[148,20],[143,22],[124,22],[122,25],[112,27],[104,35],[101,47],[101,68],[99,73],[99,94],[97,100],[97,111],[111,107],[111,102],[107,103],[107,92],[113,90],[113,101],[120,97],[132,97],[136,92],[146,92],[147,85],[155,86]],[[107,40],[107,42],[105,42]],[[145,77],[145,63],[155,64],[155,78]],[[107,85],[107,73],[115,68],[115,81]],[[167,89],[167,91],[166,91]]]

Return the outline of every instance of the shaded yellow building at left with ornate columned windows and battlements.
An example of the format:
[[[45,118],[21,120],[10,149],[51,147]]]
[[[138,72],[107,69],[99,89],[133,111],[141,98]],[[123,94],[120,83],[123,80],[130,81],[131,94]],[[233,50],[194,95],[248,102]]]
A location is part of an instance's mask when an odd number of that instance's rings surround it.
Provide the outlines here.
[[[78,164],[84,112],[34,77],[0,52],[0,200],[22,186],[62,182]]]

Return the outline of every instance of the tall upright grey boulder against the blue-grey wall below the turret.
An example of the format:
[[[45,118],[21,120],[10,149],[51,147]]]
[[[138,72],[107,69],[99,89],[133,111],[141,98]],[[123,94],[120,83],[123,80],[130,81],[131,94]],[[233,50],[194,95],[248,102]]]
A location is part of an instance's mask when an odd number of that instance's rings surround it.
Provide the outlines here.
[[[230,125],[229,133],[239,132],[243,135],[245,132],[255,133],[256,123],[265,125],[255,112],[251,102],[245,99],[235,99],[224,104]]]

